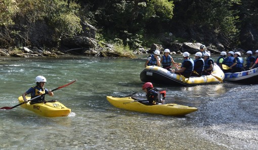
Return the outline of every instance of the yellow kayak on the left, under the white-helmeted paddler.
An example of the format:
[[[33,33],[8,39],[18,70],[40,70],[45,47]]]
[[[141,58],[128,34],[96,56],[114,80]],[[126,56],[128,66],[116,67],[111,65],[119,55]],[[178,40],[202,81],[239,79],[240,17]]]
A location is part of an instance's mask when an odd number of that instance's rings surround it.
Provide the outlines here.
[[[26,96],[27,100],[30,100],[30,97]],[[22,96],[18,98],[19,102],[23,102]],[[71,109],[65,107],[62,103],[53,101],[53,102],[42,102],[36,104],[30,104],[30,102],[22,104],[22,108],[33,111],[36,114],[45,117],[64,117],[68,116],[71,112]]]

